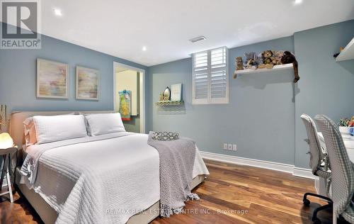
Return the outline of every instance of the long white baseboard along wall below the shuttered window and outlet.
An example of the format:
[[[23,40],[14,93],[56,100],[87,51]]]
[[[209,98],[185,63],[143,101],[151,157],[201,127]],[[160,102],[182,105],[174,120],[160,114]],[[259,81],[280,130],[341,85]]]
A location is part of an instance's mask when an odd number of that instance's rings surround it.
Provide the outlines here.
[[[297,177],[304,177],[309,179],[316,178],[316,176],[312,174],[311,169],[299,168],[291,164],[283,164],[283,163],[269,162],[269,161],[264,161],[259,159],[236,157],[233,155],[222,155],[218,153],[204,152],[204,151],[200,151],[200,155],[202,155],[202,157],[205,159],[210,159],[219,162],[241,164],[241,165],[246,165],[251,167],[259,167],[263,169],[273,169],[280,172],[287,172]]]

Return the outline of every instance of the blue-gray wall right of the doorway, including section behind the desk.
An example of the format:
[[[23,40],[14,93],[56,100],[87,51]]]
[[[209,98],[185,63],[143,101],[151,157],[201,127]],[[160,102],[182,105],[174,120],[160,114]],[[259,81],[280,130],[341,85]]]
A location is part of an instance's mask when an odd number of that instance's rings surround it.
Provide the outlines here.
[[[323,113],[338,120],[354,113],[354,61],[335,62],[333,53],[354,37],[354,21],[304,30],[288,38],[229,49],[229,104],[192,105],[190,58],[149,67],[148,130],[173,130],[194,138],[201,150],[309,167],[306,131],[299,116]],[[232,79],[234,57],[244,52],[291,50],[299,61],[293,73],[270,71]],[[166,86],[183,83],[185,108],[152,106]],[[222,150],[222,143],[238,150]]]

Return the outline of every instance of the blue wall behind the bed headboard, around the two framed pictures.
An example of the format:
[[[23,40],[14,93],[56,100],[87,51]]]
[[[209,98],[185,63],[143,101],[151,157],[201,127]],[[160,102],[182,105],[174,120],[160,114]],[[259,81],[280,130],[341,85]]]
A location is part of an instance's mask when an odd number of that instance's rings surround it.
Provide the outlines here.
[[[38,57],[69,64],[69,99],[36,99]],[[10,111],[113,110],[113,61],[147,69],[143,65],[45,35],[42,35],[41,50],[0,50],[0,102],[8,105]],[[76,65],[101,72],[99,101],[75,99]]]

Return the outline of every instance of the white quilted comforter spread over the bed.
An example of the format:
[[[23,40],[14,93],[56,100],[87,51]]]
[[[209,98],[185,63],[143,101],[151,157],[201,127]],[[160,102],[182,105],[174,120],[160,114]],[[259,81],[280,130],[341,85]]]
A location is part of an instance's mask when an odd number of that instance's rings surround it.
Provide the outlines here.
[[[148,135],[111,133],[27,148],[23,181],[57,223],[126,223],[159,201],[159,154]],[[193,177],[209,174],[196,148]]]

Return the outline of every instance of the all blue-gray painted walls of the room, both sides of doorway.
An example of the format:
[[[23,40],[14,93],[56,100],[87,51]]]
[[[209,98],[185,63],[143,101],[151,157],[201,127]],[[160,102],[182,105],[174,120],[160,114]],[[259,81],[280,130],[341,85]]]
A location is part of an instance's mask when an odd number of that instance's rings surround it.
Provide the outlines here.
[[[195,138],[201,150],[296,167],[308,167],[308,146],[301,113],[324,113],[333,120],[354,113],[354,61],[335,62],[333,53],[354,36],[354,21],[314,28],[295,35],[229,50],[230,103],[191,104],[190,58],[144,67],[42,35],[41,50],[0,50],[0,102],[10,110],[112,110],[113,61],[147,70],[146,130],[174,130]],[[292,84],[290,71],[240,75],[232,79],[234,57],[246,51],[292,50],[299,61],[300,81]],[[69,99],[36,99],[36,59],[69,64]],[[76,65],[101,71],[100,101],[77,101],[74,94]],[[153,106],[166,86],[183,83],[185,106],[171,111]],[[238,150],[222,150],[222,143]]]

